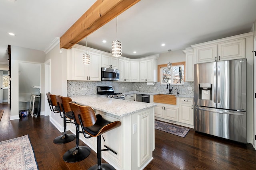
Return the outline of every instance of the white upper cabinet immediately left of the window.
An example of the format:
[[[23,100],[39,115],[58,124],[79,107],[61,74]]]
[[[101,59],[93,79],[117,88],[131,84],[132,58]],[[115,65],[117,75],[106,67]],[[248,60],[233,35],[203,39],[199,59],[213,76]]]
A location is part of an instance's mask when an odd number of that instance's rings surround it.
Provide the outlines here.
[[[157,82],[156,59],[140,61],[140,82]]]

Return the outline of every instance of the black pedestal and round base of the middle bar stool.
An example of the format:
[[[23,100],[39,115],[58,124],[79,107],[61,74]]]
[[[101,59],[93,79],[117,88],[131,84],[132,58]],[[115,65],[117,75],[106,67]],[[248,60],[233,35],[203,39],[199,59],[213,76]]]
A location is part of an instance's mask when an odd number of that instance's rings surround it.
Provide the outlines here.
[[[78,127],[79,128],[79,127]],[[79,146],[79,129],[76,129],[76,147],[68,150],[63,155],[65,162],[74,163],[79,162],[87,158],[91,152],[91,149],[86,146]]]

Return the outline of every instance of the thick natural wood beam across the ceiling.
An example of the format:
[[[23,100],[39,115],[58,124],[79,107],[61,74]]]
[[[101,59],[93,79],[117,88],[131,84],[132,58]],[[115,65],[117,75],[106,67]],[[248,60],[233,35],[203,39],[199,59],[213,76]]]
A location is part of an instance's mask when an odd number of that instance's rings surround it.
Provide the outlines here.
[[[97,0],[60,37],[60,48],[70,49],[73,45],[116,18],[140,0]]]

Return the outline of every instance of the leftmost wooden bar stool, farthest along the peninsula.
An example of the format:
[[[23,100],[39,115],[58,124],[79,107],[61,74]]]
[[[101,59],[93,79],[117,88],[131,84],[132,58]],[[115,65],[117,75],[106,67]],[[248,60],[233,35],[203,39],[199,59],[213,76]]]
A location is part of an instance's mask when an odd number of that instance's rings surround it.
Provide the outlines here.
[[[67,134],[66,117],[64,116],[63,110],[57,104],[56,95],[55,94],[46,93],[46,96],[47,96],[47,100],[48,100],[48,103],[49,103],[51,111],[53,111],[54,113],[60,113],[60,117],[63,119],[64,135],[60,135],[60,136],[56,137],[53,140],[53,143],[55,143],[55,144],[64,144],[64,143],[68,143],[68,142],[73,141],[76,138],[76,135],[74,135],[74,134]],[[63,116],[62,116],[61,112],[63,112]]]

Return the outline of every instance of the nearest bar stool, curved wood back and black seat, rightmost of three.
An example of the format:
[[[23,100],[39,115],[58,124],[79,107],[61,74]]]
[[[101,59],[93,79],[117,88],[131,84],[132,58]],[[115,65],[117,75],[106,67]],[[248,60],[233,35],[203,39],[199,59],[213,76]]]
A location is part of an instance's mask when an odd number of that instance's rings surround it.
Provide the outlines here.
[[[115,170],[112,165],[106,163],[102,164],[101,162],[101,151],[110,150],[114,154],[117,154],[109,147],[106,147],[107,149],[101,149],[101,135],[107,131],[110,131],[111,129],[120,126],[121,122],[110,122],[104,119],[102,115],[95,115],[94,109],[90,106],[82,106],[81,104],[77,104],[75,102],[70,102],[69,104],[77,129],[79,126],[82,127],[82,131],[80,133],[83,133],[85,138],[97,137],[98,164],[90,167],[89,170]]]

